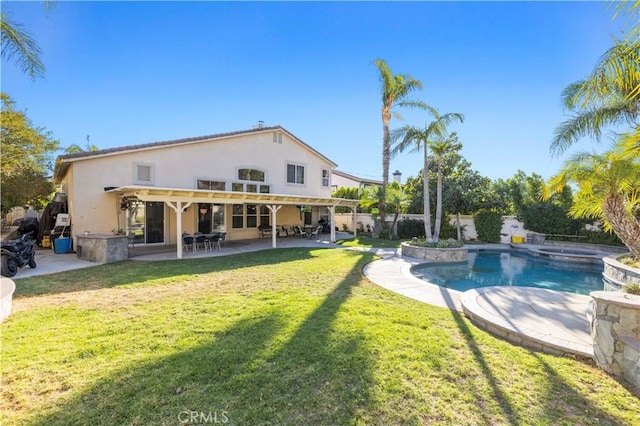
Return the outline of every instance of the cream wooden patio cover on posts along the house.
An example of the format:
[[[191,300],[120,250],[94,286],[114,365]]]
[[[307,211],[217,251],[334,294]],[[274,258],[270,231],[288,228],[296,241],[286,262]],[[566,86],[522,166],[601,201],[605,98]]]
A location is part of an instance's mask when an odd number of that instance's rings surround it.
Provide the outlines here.
[[[210,191],[206,189],[158,188],[155,186],[122,186],[105,188],[105,192],[120,196],[135,196],[141,201],[164,202],[176,213],[177,257],[182,259],[182,211],[193,203],[266,205],[271,212],[271,245],[276,248],[277,212],[284,205],[324,206],[329,210],[331,242],[335,242],[335,208],[349,207],[355,213],[359,200],[332,197],[308,197],[304,195],[260,194],[254,192]],[[354,214],[355,220],[355,214]],[[356,229],[355,224],[353,229]]]

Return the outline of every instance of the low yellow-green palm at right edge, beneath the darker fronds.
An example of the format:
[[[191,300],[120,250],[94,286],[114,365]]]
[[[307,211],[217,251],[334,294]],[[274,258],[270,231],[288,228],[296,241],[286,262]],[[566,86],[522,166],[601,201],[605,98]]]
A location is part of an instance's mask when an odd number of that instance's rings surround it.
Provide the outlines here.
[[[544,198],[568,183],[578,186],[569,214],[601,219],[640,259],[640,157],[625,149],[624,141],[603,154],[576,154],[551,178]]]

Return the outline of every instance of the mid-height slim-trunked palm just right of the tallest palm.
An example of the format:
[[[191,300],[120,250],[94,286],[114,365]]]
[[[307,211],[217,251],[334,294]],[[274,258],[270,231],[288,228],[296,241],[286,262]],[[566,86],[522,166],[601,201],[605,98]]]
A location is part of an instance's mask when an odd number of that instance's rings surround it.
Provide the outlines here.
[[[424,128],[407,125],[394,130],[392,135],[393,141],[396,142],[392,155],[397,155],[406,149],[411,149],[410,152],[419,152],[422,150],[424,154],[422,174],[424,177],[424,232],[427,241],[433,240],[431,233],[431,209],[429,207],[429,144],[436,138],[444,137],[447,126],[454,120],[464,121],[464,115],[457,112],[450,112],[441,116],[437,110],[431,107],[429,107],[429,111],[435,120],[427,124]]]

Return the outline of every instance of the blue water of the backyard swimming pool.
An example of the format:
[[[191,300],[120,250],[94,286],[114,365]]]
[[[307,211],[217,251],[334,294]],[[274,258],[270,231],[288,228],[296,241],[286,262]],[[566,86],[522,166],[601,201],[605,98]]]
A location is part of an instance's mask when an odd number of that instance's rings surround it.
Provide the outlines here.
[[[589,294],[604,289],[602,266],[512,252],[469,252],[468,263],[424,264],[412,272],[425,281],[459,291],[520,286]]]

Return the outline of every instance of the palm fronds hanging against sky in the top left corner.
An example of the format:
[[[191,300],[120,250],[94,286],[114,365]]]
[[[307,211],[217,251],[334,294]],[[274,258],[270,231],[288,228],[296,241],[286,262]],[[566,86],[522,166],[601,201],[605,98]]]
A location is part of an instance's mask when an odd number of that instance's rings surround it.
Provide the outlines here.
[[[15,60],[22,72],[32,79],[44,76],[45,67],[38,44],[22,24],[11,20],[6,11],[0,14],[0,41],[3,59]]]

